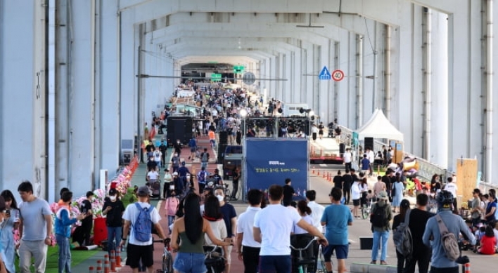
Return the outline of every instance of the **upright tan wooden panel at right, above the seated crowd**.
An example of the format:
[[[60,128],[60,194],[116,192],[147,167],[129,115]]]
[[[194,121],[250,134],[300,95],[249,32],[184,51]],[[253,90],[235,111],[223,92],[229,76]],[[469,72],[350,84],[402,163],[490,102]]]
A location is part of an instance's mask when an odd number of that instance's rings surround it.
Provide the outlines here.
[[[457,195],[459,206],[461,202],[471,200],[472,191],[475,189],[478,175],[477,159],[457,159]]]

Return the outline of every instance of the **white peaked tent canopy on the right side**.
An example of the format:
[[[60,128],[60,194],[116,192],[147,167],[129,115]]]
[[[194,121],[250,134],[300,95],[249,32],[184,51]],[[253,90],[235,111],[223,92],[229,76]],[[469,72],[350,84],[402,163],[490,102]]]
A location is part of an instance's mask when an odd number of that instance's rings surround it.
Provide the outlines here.
[[[364,138],[386,138],[388,140],[403,141],[403,133],[397,131],[397,128],[384,116],[381,109],[376,109],[369,121],[366,121],[366,124],[358,128],[356,132],[359,140]]]

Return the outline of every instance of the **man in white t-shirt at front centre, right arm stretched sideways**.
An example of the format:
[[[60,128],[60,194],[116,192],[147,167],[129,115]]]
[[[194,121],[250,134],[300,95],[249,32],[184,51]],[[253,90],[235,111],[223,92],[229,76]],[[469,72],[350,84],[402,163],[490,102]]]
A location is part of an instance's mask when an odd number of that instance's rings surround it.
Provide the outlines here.
[[[327,240],[316,227],[301,216],[281,205],[283,187],[272,185],[268,189],[269,205],[256,213],[253,227],[255,241],[261,243],[259,272],[288,273],[291,271],[290,232],[293,225],[298,225],[309,234],[319,237],[324,246]]]

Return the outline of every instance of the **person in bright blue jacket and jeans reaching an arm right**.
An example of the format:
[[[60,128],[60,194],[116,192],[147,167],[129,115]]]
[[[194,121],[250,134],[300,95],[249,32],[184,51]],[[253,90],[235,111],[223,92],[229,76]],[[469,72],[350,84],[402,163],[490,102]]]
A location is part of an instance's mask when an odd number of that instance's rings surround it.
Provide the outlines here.
[[[69,239],[71,237],[71,225],[77,221],[87,218],[89,214],[80,213],[76,218],[71,218],[70,206],[72,201],[72,192],[66,191],[62,194],[62,201],[65,206],[59,206],[56,212],[55,219],[55,233],[57,246],[59,248],[58,257],[58,272],[70,273],[71,272],[71,251],[69,247]]]

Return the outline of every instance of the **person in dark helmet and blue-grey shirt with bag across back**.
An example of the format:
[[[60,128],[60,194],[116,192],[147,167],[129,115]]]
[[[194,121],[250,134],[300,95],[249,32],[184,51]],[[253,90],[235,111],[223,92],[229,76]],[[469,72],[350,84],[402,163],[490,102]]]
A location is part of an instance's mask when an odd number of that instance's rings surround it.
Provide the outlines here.
[[[460,233],[468,238],[472,245],[475,245],[475,237],[468,229],[464,219],[459,215],[452,213],[453,194],[447,190],[442,190],[436,195],[436,203],[438,204],[438,213],[442,222],[446,225],[448,232],[454,234],[455,238],[459,238]],[[423,244],[428,248],[432,248],[432,257],[430,258],[431,273],[458,273],[459,266],[456,261],[449,260],[446,257],[445,248],[441,243],[441,231],[439,229],[438,220],[436,217],[431,217],[427,221],[426,230],[422,235]]]

